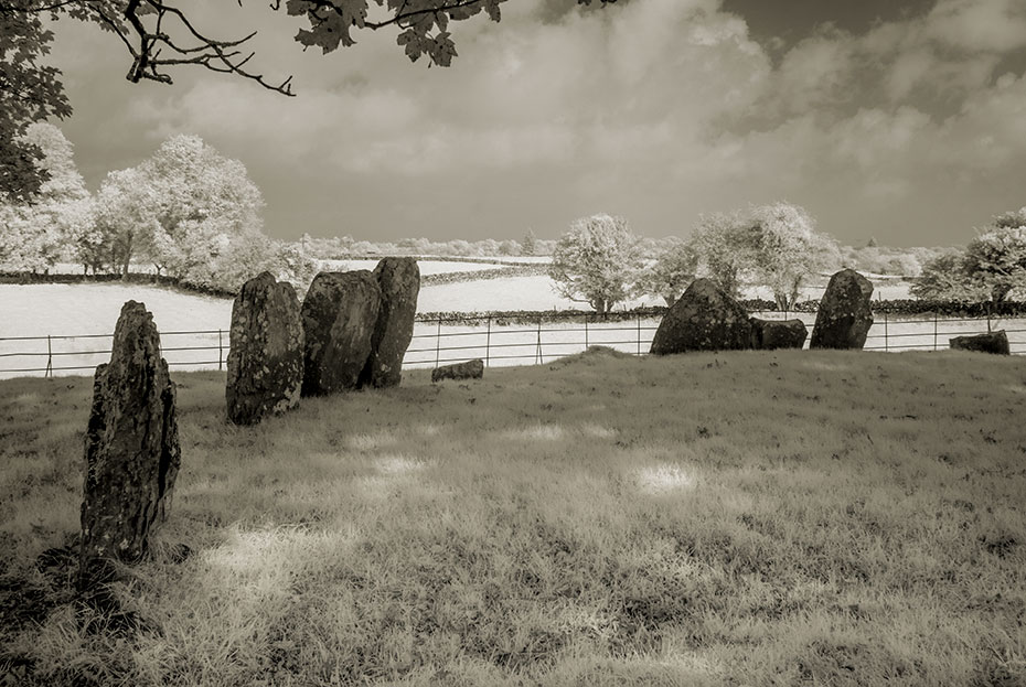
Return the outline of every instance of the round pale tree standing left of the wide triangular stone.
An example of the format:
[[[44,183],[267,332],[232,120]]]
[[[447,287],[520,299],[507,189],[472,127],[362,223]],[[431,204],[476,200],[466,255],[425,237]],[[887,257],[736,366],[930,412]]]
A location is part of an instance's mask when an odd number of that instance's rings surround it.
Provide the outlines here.
[[[628,299],[641,267],[638,237],[627,221],[600,214],[576,219],[559,237],[548,276],[564,298],[607,313]]]

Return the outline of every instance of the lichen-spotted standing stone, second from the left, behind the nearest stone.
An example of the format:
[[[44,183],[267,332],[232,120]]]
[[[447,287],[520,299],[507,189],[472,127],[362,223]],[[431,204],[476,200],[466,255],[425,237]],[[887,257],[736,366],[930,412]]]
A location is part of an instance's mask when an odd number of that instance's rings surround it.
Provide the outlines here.
[[[270,272],[243,285],[232,305],[231,341],[225,400],[232,422],[256,425],[299,402],[303,336],[292,285]]]

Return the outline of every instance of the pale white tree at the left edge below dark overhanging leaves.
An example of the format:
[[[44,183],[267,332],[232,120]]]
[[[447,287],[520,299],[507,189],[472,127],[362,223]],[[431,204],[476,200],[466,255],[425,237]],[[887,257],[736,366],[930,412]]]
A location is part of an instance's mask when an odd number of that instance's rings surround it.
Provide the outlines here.
[[[0,204],[0,262],[9,268],[46,271],[66,246],[90,236],[93,204],[75,167],[72,144],[53,125],[29,126],[21,140],[43,152],[46,173],[32,202]]]

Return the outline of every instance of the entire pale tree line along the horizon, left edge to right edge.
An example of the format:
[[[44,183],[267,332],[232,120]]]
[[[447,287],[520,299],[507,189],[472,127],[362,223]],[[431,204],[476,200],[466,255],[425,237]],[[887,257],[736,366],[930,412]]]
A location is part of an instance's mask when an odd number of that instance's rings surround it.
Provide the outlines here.
[[[1026,290],[1026,208],[998,215],[965,248],[889,248],[870,238],[841,246],[804,208],[785,202],[699,216],[686,239],[634,235],[626,219],[575,221],[558,240],[527,229],[517,239],[356,240],[304,234],[293,243],[263,232],[264,198],[245,165],[196,136],[164,141],[139,164],[107,174],[90,194],[72,144],[38,122],[24,143],[43,151],[44,181],[30,198],[0,202],[0,270],[45,273],[58,262],[84,272],[127,275],[152,265],[159,276],[235,291],[269,270],[303,288],[318,259],[415,255],[552,256],[549,276],[564,297],[598,312],[641,296],[673,303],[699,276],[739,294],[761,285],[778,308],[793,310],[801,288],[841,267],[915,280],[920,299],[1003,302]]]

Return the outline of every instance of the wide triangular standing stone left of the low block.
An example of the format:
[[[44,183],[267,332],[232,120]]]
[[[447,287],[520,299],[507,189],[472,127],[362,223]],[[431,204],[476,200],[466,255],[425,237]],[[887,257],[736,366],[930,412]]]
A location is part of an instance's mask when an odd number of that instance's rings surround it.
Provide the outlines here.
[[[708,279],[695,279],[663,315],[651,353],[739,351],[751,345],[748,312]]]

